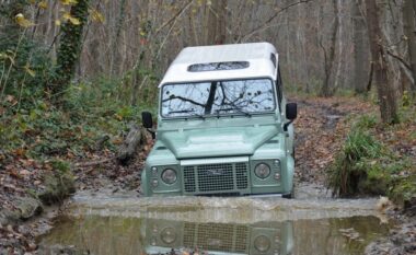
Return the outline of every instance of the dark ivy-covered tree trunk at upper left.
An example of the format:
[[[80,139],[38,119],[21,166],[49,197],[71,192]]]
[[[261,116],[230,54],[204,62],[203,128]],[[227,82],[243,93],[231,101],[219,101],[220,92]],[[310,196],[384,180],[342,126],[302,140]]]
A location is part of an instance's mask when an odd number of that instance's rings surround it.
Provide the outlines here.
[[[72,18],[77,18],[80,24],[76,25],[68,21],[62,25],[62,35],[57,51],[57,68],[50,86],[55,102],[62,98],[74,74],[76,65],[81,54],[83,28],[89,15],[88,8],[89,0],[79,0],[78,3],[71,7],[70,14]]]

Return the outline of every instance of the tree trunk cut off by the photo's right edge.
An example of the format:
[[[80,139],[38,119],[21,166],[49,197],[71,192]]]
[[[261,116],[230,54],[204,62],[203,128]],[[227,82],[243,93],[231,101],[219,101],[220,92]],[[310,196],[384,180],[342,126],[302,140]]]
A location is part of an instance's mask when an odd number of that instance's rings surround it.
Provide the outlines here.
[[[416,93],[416,3],[415,0],[405,0],[403,5],[403,25],[407,37],[408,56],[412,68],[412,92]]]

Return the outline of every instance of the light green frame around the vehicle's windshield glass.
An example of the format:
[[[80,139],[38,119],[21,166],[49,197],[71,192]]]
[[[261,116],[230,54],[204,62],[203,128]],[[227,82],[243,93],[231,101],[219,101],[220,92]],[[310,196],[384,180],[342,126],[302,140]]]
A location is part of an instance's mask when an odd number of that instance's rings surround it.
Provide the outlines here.
[[[188,115],[188,116],[177,116],[177,117],[167,117],[162,114],[162,91],[165,85],[178,85],[178,84],[184,84],[184,83],[204,83],[204,82],[223,82],[223,81],[246,81],[246,80],[259,80],[259,79],[266,79],[269,80],[271,83],[271,90],[273,90],[273,101],[274,101],[274,108],[270,111],[264,111],[264,112],[249,112],[250,116],[255,116],[255,115],[265,115],[265,114],[275,114],[276,109],[279,108],[278,105],[279,100],[277,98],[277,93],[276,93],[276,82],[274,81],[273,78],[270,77],[250,77],[250,78],[232,78],[232,79],[222,79],[222,80],[200,80],[200,81],[182,81],[182,82],[166,82],[163,83],[159,86],[159,115],[161,116],[162,119],[201,119],[201,116],[204,118],[219,118],[219,117],[234,117],[234,116],[242,116],[242,117],[247,117],[246,114],[244,113],[222,113],[222,114],[207,114],[207,115]]]

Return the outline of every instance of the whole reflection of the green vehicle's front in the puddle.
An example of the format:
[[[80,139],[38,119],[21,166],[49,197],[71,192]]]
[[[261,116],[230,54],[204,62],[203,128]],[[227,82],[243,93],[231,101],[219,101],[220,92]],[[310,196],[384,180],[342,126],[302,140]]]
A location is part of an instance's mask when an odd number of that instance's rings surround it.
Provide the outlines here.
[[[267,227],[149,219],[146,223],[143,247],[149,254],[172,247],[197,247],[209,254],[290,254],[293,246],[292,222]]]

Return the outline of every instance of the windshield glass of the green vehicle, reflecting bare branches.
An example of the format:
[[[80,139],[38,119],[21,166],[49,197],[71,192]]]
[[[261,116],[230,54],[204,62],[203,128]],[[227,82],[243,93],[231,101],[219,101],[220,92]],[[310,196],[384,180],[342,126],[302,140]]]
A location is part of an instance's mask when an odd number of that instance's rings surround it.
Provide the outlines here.
[[[275,109],[269,79],[209,81],[162,86],[163,117],[265,113]]]

